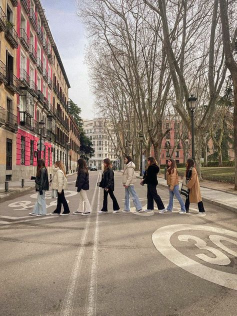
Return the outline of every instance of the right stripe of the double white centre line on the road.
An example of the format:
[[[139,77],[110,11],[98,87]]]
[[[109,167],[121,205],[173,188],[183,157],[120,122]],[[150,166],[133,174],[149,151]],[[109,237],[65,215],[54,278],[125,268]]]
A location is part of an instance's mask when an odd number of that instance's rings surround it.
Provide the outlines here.
[[[98,203],[97,211],[99,210],[99,201],[100,190],[98,190]],[[96,289],[97,289],[97,263],[98,263],[98,232],[99,232],[99,220],[98,213],[96,215],[95,229],[94,229],[94,240],[93,240],[93,249],[92,249],[92,259],[90,265],[90,281],[87,294],[87,310],[85,310],[85,315],[94,316],[96,315]]]

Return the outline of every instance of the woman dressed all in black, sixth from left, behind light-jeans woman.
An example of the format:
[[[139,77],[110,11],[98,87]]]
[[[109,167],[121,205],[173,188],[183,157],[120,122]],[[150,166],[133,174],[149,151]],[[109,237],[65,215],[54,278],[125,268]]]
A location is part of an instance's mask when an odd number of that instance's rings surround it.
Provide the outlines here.
[[[159,172],[159,167],[157,165],[157,161],[154,157],[147,158],[148,167],[145,170],[141,185],[147,184],[147,209],[145,212],[150,212],[154,209],[154,201],[157,204],[158,210],[160,213],[165,212],[166,208],[156,191],[157,181],[157,173]]]

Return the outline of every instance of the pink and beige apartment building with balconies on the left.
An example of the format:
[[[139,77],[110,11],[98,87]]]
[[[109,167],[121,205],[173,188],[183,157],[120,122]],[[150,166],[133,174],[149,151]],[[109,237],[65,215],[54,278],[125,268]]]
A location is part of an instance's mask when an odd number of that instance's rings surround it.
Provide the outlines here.
[[[0,182],[68,159],[70,84],[39,0],[0,1]],[[41,133],[41,152],[37,148]]]

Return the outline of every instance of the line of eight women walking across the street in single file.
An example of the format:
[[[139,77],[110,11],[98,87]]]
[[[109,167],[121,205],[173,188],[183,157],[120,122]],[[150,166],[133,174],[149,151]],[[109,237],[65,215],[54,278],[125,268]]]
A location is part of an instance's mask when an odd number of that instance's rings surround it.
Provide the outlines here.
[[[142,209],[139,197],[134,189],[134,183],[136,181],[135,164],[129,155],[124,158],[124,169],[122,173],[122,185],[125,189],[124,197],[124,209],[122,212],[130,212],[130,196],[135,206],[136,212],[150,212],[154,209],[154,202],[157,205],[159,213],[172,212],[173,197],[175,196],[180,204],[180,214],[188,212],[190,203],[197,203],[198,213],[203,213],[204,206],[201,200],[200,185],[198,181],[197,171],[193,159],[187,159],[186,169],[183,176],[183,183],[181,187],[181,194],[185,196],[185,203],[179,193],[178,184],[178,171],[175,160],[168,159],[167,167],[167,185],[169,191],[169,202],[167,207],[164,206],[160,196],[157,193],[156,186],[157,173],[159,172],[159,166],[154,157],[148,157],[147,167],[144,172],[143,178],[140,182],[141,185],[147,185],[147,207]],[[78,208],[73,214],[87,215],[91,213],[91,206],[86,194],[89,189],[89,173],[86,166],[86,162],[83,158],[77,161],[77,178],[75,186],[79,193]],[[100,182],[97,185],[103,188],[103,204],[98,213],[106,213],[108,195],[112,199],[113,213],[117,213],[120,210],[117,199],[114,195],[114,172],[110,159],[105,158],[103,160],[103,173]],[[32,177],[31,177],[32,178]],[[46,215],[46,203],[45,203],[45,191],[49,190],[49,181],[47,169],[43,159],[37,161],[37,172],[35,179],[35,190],[37,191],[37,201],[34,205],[33,211],[30,215],[43,216]],[[57,205],[54,211],[49,213],[50,215],[68,215],[70,213],[67,201],[64,196],[64,190],[67,189],[66,173],[62,161],[56,161],[51,182],[52,197],[57,197]],[[61,212],[61,206],[63,205],[63,212]]]

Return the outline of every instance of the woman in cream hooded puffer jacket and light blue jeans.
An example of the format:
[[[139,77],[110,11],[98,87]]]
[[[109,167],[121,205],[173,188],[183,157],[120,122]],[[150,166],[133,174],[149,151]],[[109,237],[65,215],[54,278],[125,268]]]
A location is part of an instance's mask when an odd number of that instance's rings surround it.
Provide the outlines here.
[[[142,206],[139,197],[134,189],[134,183],[136,181],[135,175],[135,164],[131,161],[131,156],[125,156],[124,159],[124,169],[122,173],[122,184],[125,187],[125,198],[124,198],[124,210],[123,212],[130,211],[130,194],[133,204],[136,208],[136,212],[142,211]],[[117,211],[113,211],[117,212]]]

